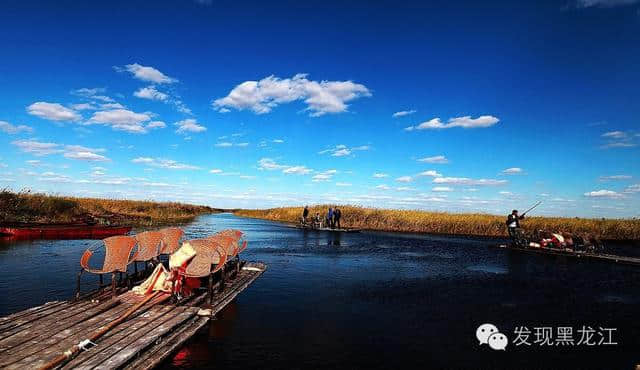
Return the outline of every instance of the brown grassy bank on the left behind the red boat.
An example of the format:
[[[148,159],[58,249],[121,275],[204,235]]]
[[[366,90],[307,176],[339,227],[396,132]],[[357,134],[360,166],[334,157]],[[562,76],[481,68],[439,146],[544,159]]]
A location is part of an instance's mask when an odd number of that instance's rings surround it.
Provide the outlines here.
[[[31,192],[0,191],[0,222],[82,222],[94,220],[132,226],[154,226],[191,221],[220,212],[211,207],[182,203],[75,198]]]

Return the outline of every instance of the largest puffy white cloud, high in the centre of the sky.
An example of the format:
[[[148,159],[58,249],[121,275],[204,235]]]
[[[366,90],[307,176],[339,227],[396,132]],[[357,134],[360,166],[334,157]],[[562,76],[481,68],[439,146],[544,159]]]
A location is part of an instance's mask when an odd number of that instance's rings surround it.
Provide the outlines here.
[[[224,98],[213,102],[214,109],[226,112],[228,108],[249,109],[256,114],[269,113],[280,104],[304,100],[312,117],[348,110],[347,102],[362,96],[371,96],[366,86],[352,81],[312,81],[306,74],[281,79],[275,76],[260,81],[245,81]]]

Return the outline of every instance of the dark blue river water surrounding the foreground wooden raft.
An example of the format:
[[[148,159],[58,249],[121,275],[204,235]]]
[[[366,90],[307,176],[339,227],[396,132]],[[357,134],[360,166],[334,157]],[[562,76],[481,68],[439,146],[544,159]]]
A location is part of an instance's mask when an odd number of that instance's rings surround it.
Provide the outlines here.
[[[491,247],[496,241],[303,231],[230,214],[184,227],[189,238],[226,228],[246,233],[244,259],[269,268],[164,368],[640,363],[638,267]],[[93,243],[0,242],[0,316],[71,297],[80,255]],[[93,282],[83,281],[86,288]],[[504,351],[479,344],[483,323],[509,339]]]

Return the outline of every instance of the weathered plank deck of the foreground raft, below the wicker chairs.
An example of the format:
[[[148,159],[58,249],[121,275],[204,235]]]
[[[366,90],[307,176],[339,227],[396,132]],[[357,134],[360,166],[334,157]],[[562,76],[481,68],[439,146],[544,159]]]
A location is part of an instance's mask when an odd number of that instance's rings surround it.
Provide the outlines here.
[[[82,351],[62,368],[154,368],[195,335],[266,268],[263,263],[244,264],[234,279],[226,280],[224,290],[214,294],[211,307],[200,308],[208,301],[206,292],[194,295],[180,305],[154,305],[151,301],[100,338],[96,346]],[[39,368],[116,320],[142,298],[125,292],[111,299],[107,292],[98,299],[48,302],[0,318],[0,368]]]

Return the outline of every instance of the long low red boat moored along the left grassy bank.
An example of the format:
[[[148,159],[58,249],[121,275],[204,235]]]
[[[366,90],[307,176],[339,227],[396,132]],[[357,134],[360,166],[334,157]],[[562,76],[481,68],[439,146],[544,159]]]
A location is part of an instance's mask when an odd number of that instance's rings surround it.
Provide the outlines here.
[[[104,239],[125,235],[130,226],[87,224],[7,224],[0,225],[0,235],[18,239]]]

